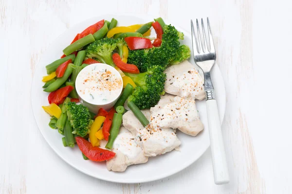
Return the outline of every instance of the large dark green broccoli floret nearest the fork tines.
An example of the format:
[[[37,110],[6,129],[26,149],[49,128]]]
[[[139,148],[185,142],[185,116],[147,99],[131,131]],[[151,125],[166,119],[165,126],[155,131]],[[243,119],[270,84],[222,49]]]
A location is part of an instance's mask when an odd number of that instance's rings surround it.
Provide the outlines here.
[[[166,68],[169,64],[177,64],[190,57],[190,49],[186,45],[180,46],[183,33],[168,25],[164,26],[162,44],[151,49],[130,50],[128,63],[137,65],[140,72],[145,72],[153,65]],[[189,50],[189,51],[188,51]]]

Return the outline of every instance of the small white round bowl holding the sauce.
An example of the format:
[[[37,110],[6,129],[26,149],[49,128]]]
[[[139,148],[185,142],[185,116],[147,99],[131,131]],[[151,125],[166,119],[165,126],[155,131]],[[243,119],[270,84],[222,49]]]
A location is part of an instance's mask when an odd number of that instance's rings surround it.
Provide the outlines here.
[[[112,74],[114,74],[118,79],[121,80],[121,83],[122,83],[121,86],[117,90],[115,90],[116,92],[113,94],[114,95],[113,97],[111,96],[112,99],[110,101],[106,101],[104,103],[102,103],[102,102],[98,102],[98,103],[89,102],[89,100],[85,99],[85,97],[84,97],[85,95],[80,92],[80,89],[82,89],[82,84],[83,84],[82,82],[84,79],[84,78],[82,78],[82,76],[84,75],[84,73],[92,71],[92,68],[94,68],[94,67],[95,67],[95,69],[97,68],[96,70],[101,70],[101,69],[110,70]],[[80,102],[84,106],[88,107],[88,109],[92,113],[97,113],[100,108],[104,108],[105,110],[110,110],[110,108],[113,107],[113,105],[116,103],[118,98],[121,96],[121,93],[123,90],[123,79],[122,79],[122,76],[120,75],[120,73],[114,67],[112,67],[110,65],[101,64],[101,63],[91,64],[91,65],[84,67],[79,72],[79,74],[77,75],[76,81],[75,81],[75,87],[76,87],[76,91],[77,91]]]

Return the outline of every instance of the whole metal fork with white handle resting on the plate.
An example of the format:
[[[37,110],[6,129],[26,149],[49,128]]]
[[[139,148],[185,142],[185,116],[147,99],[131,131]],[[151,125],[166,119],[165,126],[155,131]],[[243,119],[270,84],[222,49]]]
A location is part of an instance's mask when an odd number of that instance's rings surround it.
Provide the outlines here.
[[[221,132],[221,125],[218,113],[217,102],[214,94],[214,87],[211,81],[210,71],[216,61],[216,51],[213,43],[213,37],[210,27],[210,21],[207,17],[208,37],[204,29],[204,22],[201,19],[202,36],[201,40],[200,27],[197,19],[197,35],[194,29],[193,20],[191,20],[192,29],[192,44],[195,63],[201,67],[204,73],[205,81],[205,94],[206,94],[206,106],[207,117],[209,125],[209,135],[212,153],[213,174],[215,184],[226,184],[229,182],[229,173],[226,161],[226,155],[224,150],[223,137]],[[207,38],[209,40],[209,48],[207,46]]]

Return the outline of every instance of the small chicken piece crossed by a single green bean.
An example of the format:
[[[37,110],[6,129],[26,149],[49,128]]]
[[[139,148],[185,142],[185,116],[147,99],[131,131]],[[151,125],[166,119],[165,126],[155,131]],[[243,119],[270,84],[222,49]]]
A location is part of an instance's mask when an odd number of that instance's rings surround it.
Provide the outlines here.
[[[150,110],[141,110],[141,112],[146,116],[146,118],[150,119]],[[143,125],[137,119],[132,111],[128,111],[123,115],[123,126],[131,131],[134,135],[137,134],[137,131],[144,129]]]

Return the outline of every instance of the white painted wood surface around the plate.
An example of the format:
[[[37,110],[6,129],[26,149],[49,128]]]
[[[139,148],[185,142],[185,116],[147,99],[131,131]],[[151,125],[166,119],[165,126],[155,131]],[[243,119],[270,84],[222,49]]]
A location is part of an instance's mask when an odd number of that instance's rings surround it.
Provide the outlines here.
[[[292,193],[291,10],[286,0],[0,0],[0,194]],[[162,16],[187,31],[191,18],[210,17],[229,184],[214,184],[210,149],[171,177],[118,184],[73,169],[45,142],[31,110],[34,69],[58,35],[108,12]]]

